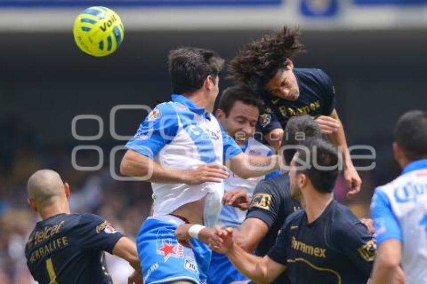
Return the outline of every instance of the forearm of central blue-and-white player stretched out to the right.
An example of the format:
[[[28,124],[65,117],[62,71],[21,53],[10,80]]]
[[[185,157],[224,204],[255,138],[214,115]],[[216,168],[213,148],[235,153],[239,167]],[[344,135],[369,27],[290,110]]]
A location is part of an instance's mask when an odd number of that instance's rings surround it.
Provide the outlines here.
[[[241,154],[239,156],[230,160],[230,169],[243,179],[264,176],[280,169],[278,155],[263,157]]]

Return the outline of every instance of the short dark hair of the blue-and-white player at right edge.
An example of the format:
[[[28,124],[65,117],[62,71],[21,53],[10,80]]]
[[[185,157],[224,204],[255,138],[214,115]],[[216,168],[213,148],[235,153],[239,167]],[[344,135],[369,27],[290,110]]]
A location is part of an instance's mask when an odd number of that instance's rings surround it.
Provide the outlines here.
[[[405,112],[396,123],[394,137],[409,161],[427,158],[427,112]]]

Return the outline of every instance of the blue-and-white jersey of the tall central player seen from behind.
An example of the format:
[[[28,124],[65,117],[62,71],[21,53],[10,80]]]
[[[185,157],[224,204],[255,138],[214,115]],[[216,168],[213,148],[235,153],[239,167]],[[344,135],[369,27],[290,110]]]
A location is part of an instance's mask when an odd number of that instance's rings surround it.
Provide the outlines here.
[[[168,169],[189,170],[203,164],[223,164],[242,153],[211,113],[182,95],[156,106],[141,123],[127,148],[152,158]],[[205,197],[203,220],[212,227],[218,220],[224,195],[223,183],[152,183],[153,216],[172,213],[180,206]]]

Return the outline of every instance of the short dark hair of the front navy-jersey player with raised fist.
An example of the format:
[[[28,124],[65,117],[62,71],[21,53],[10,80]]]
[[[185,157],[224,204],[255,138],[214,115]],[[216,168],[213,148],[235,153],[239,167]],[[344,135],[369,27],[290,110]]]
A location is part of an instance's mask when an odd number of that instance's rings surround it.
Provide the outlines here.
[[[307,161],[307,152],[302,149],[297,152],[298,158],[301,161],[308,162],[310,167],[297,171],[297,173],[305,174],[314,189],[318,192],[331,193],[334,190],[338,175],[340,174],[340,169],[338,167],[339,154],[337,150],[322,138],[309,138],[303,145],[308,148],[310,159]],[[315,167],[313,161],[316,161],[315,165],[331,167],[331,169]],[[302,166],[298,161],[296,161],[296,164],[297,166]]]

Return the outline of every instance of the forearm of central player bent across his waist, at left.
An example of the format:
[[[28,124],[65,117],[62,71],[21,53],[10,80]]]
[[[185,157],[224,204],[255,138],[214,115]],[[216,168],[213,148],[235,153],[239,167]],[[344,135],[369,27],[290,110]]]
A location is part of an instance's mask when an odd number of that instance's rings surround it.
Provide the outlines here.
[[[123,157],[120,172],[125,176],[158,183],[181,183],[184,177],[181,171],[165,169],[153,160],[132,150],[128,150]]]

